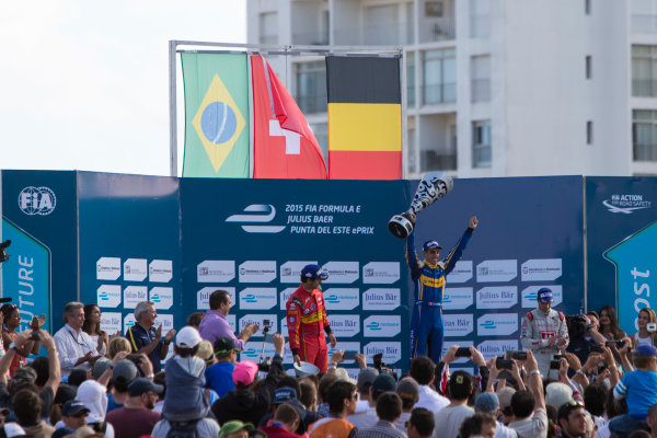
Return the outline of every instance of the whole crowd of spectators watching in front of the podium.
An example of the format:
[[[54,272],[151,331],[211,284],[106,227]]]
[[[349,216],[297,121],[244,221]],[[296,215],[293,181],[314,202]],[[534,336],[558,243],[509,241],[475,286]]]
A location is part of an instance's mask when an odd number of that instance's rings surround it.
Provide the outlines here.
[[[230,296],[214,300],[208,321],[195,313],[168,333],[153,304],[139,303],[125,337],[100,328],[95,304],[68,303],[54,335],[43,315],[21,332],[16,307],[4,304],[0,438],[657,437],[650,309],[631,335],[611,307],[568,316],[569,343],[548,372],[532,349],[486,360],[452,345],[438,364],[416,357],[404,376],[358,354],[351,378],[342,350],[325,373],[285,369],[280,334],[269,362],[240,361],[258,327],[233,334]]]

